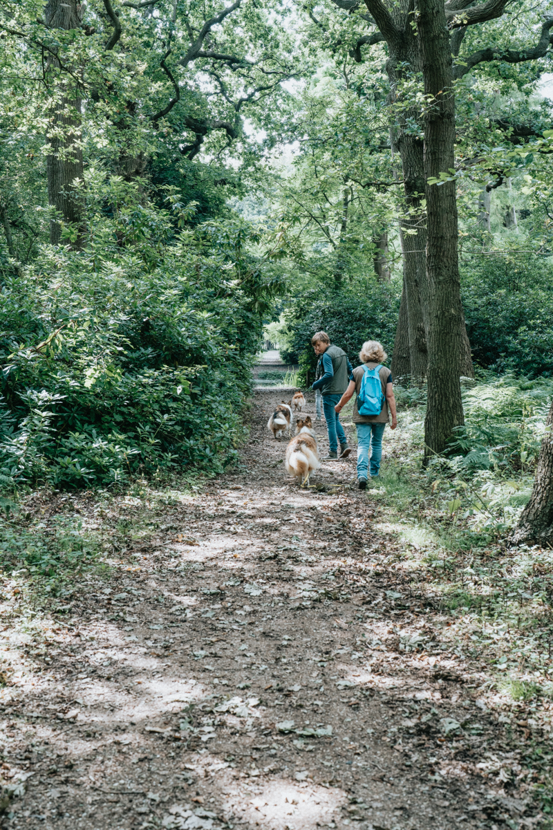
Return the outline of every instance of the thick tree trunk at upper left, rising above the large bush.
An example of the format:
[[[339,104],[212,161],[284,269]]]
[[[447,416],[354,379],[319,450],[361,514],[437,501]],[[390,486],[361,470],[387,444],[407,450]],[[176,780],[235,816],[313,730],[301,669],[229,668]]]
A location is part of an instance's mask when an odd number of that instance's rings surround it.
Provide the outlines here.
[[[46,26],[65,31],[79,28],[79,8],[77,0],[49,0],[45,9]],[[54,85],[47,134],[50,144],[46,156],[48,202],[56,208],[56,212],[61,213],[61,222],[75,227],[70,244],[80,249],[84,245],[85,234],[80,83],[61,69],[55,57],[49,61],[48,74]],[[61,242],[61,222],[59,217],[51,220],[52,245]]]

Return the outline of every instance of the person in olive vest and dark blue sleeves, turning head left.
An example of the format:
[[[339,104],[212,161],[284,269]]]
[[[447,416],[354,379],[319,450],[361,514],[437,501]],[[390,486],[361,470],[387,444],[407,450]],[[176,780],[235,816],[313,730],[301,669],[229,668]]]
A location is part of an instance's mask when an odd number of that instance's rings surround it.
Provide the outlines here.
[[[338,457],[347,458],[352,451],[347,446],[346,433],[334,407],[347,389],[349,376],[353,371],[352,364],[343,349],[331,344],[326,331],[313,334],[311,345],[315,354],[323,356],[323,375],[311,387],[315,391],[320,389],[323,393],[323,413],[327,421],[329,444],[328,455],[323,458],[323,461],[333,461]],[[337,452],[338,441],[340,442],[339,453]]]

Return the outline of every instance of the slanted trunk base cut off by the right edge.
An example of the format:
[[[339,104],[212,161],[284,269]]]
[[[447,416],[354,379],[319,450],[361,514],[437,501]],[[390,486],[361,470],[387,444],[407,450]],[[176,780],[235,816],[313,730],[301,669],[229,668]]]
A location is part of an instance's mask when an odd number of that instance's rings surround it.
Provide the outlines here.
[[[530,501],[522,510],[521,518],[511,540],[514,544],[553,545],[553,403],[547,416],[546,434],[541,442],[536,478]]]

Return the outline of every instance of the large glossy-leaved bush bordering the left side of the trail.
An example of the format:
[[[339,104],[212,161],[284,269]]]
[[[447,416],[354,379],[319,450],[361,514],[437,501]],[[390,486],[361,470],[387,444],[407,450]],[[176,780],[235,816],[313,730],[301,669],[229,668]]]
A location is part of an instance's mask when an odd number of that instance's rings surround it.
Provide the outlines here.
[[[275,290],[245,254],[255,235],[211,222],[175,238],[143,204],[119,217],[139,246],[99,222],[86,251],[46,247],[6,278],[0,486],[109,486],[235,458]]]

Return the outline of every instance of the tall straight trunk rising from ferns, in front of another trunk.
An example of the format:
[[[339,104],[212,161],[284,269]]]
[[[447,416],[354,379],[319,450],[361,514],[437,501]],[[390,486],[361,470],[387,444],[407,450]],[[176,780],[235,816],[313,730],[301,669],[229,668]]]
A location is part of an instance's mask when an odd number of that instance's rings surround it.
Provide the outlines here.
[[[418,0],[424,95],[424,174],[454,168],[455,98],[444,0]],[[424,422],[424,461],[444,452],[455,428],[464,423],[459,376],[464,328],[458,273],[458,218],[455,182],[426,185],[428,242],[426,268],[431,286],[428,337],[428,407]]]

